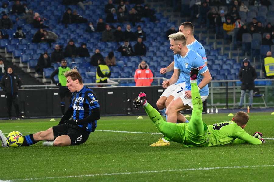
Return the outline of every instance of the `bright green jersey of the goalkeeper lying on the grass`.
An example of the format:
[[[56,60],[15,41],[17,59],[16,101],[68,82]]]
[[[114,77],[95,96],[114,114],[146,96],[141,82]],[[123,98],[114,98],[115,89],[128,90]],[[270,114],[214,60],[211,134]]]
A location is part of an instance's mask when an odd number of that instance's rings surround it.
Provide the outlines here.
[[[234,121],[208,125],[208,137],[204,146],[225,145],[227,143],[250,143],[253,145],[262,144],[258,138],[249,135]]]

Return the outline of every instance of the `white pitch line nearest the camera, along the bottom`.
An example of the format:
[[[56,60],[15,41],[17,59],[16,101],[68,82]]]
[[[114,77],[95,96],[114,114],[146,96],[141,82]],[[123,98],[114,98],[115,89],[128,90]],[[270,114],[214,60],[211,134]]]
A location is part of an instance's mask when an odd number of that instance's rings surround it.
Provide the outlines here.
[[[204,167],[204,168],[187,168],[187,169],[167,169],[167,170],[159,170],[159,171],[136,171],[136,172],[122,172],[122,173],[83,174],[83,175],[76,175],[76,176],[56,176],[56,177],[27,178],[27,179],[13,179],[13,180],[6,180],[6,181],[28,181],[28,180],[63,179],[63,178],[78,178],[78,177],[129,175],[129,174],[148,174],[148,173],[159,173],[159,172],[183,172],[183,171],[197,171],[197,170],[216,170],[216,169],[244,169],[244,168],[258,168],[258,167],[274,167],[274,165],[225,166],[225,167]]]

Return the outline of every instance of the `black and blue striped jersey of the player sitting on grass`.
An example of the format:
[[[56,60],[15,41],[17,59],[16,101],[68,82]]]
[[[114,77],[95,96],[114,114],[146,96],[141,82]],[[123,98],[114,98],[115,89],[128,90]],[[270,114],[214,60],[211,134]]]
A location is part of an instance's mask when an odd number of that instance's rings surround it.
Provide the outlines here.
[[[98,100],[92,89],[83,86],[79,92],[72,93],[69,108],[73,109],[72,116],[74,120],[86,118],[91,114],[92,109],[99,107]],[[85,129],[87,132],[94,132],[97,127],[97,120],[78,126]]]

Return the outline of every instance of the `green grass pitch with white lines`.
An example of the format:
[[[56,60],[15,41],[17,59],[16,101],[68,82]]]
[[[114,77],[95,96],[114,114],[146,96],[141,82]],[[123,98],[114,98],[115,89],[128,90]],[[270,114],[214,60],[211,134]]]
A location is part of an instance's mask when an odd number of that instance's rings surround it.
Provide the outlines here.
[[[269,138],[265,144],[183,147],[171,142],[149,147],[162,135],[147,116],[102,117],[97,131],[82,145],[45,147],[39,142],[1,147],[0,181],[274,181],[274,115],[249,115],[245,130],[262,132]],[[231,116],[204,114],[202,118],[213,124]],[[26,135],[58,121],[2,120],[0,129],[5,135],[16,130]]]

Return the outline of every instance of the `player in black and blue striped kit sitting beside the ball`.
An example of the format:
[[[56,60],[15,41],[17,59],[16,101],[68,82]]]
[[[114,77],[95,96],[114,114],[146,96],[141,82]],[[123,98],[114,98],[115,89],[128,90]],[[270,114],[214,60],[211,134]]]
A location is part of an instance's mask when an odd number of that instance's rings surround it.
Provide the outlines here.
[[[71,104],[57,126],[46,131],[24,136],[22,146],[29,146],[42,140],[46,146],[79,145],[88,139],[97,127],[100,119],[100,106],[95,93],[83,84],[82,77],[76,69],[65,72],[66,86],[72,92]],[[72,119],[70,119],[70,117]],[[7,147],[6,138],[0,130],[2,146]]]

